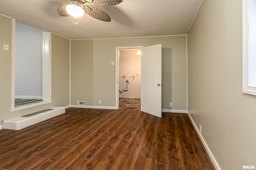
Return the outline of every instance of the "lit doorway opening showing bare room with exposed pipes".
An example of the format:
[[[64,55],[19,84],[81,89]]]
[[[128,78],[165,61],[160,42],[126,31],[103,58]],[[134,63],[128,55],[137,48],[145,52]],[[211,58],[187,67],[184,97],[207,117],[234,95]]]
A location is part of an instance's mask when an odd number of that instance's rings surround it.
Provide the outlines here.
[[[140,109],[141,61],[138,48],[118,49],[118,108]]]

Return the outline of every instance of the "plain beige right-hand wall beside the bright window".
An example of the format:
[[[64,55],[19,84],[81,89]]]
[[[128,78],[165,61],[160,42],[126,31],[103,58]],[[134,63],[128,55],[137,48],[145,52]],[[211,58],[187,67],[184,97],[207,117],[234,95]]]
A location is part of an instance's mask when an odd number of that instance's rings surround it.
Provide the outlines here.
[[[256,166],[256,96],[242,93],[242,0],[204,0],[188,33],[188,111],[223,170]]]

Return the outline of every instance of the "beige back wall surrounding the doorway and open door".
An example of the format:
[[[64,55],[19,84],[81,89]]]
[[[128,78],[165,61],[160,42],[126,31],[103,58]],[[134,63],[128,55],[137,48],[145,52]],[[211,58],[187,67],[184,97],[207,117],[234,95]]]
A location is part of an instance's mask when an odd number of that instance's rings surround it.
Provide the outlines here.
[[[71,41],[71,104],[116,105],[116,47],[162,43],[162,108],[186,110],[186,35]],[[116,64],[116,62],[115,62]],[[98,104],[98,100],[102,104]],[[169,107],[172,102],[173,107]]]

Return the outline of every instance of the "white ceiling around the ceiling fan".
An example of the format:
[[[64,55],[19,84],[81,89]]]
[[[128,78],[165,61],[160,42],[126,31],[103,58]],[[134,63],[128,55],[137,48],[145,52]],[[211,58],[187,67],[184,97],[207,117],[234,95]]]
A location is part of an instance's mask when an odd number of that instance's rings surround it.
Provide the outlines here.
[[[0,0],[0,14],[68,39],[180,35],[187,33],[202,0],[124,0],[100,7],[111,17],[110,22],[86,13],[81,18],[62,17],[57,8],[67,3],[69,0]]]

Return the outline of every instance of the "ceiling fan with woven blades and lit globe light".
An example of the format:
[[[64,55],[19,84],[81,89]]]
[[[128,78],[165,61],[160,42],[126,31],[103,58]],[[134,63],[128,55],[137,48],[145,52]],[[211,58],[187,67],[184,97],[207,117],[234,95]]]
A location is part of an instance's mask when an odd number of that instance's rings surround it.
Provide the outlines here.
[[[123,0],[70,0],[69,4],[62,4],[57,12],[60,16],[81,17],[84,12],[101,21],[110,22],[110,16],[98,7],[107,7],[120,4]]]

